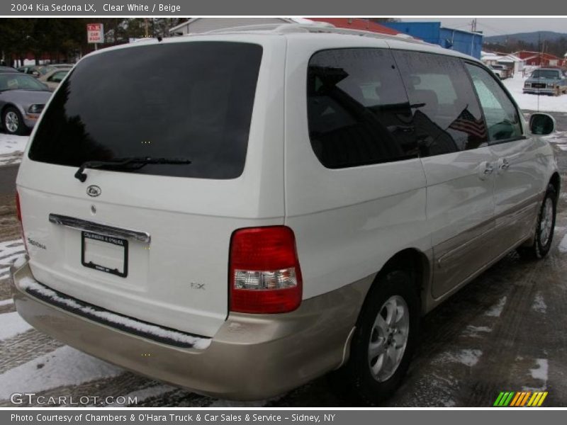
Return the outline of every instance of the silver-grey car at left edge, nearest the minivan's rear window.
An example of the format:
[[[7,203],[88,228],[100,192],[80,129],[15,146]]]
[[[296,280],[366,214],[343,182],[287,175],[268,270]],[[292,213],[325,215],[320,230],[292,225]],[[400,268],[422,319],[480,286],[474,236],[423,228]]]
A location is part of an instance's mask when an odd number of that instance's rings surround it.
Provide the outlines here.
[[[12,135],[28,132],[50,96],[49,88],[30,75],[0,74],[0,116],[4,131]]]

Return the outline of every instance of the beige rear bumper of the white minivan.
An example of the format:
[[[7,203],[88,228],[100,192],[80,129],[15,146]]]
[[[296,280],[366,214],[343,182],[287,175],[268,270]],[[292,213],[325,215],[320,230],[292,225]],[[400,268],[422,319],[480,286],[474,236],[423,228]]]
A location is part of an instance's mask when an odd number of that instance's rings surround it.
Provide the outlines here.
[[[205,349],[152,341],[73,314],[22,288],[26,263],[12,270],[18,313],[69,346],[150,378],[225,399],[265,399],[338,368],[374,276],[303,301],[287,314],[230,314]]]

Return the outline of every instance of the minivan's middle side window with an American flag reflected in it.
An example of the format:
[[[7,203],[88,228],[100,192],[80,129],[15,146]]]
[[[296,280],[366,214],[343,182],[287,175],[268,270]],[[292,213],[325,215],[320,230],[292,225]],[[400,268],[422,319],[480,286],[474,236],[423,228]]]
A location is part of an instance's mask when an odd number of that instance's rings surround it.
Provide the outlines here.
[[[422,157],[486,145],[486,125],[461,60],[405,50],[393,55],[408,90]]]

